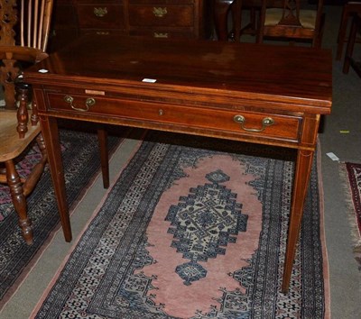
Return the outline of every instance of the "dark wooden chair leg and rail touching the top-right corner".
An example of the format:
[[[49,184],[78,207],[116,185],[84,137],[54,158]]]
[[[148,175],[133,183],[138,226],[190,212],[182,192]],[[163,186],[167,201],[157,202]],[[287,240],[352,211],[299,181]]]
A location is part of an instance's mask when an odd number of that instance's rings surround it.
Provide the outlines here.
[[[349,1],[342,9],[341,22],[338,30],[338,50],[336,51],[336,59],[341,59],[344,49],[344,43],[347,42],[347,24],[355,14],[361,14],[361,2]]]

